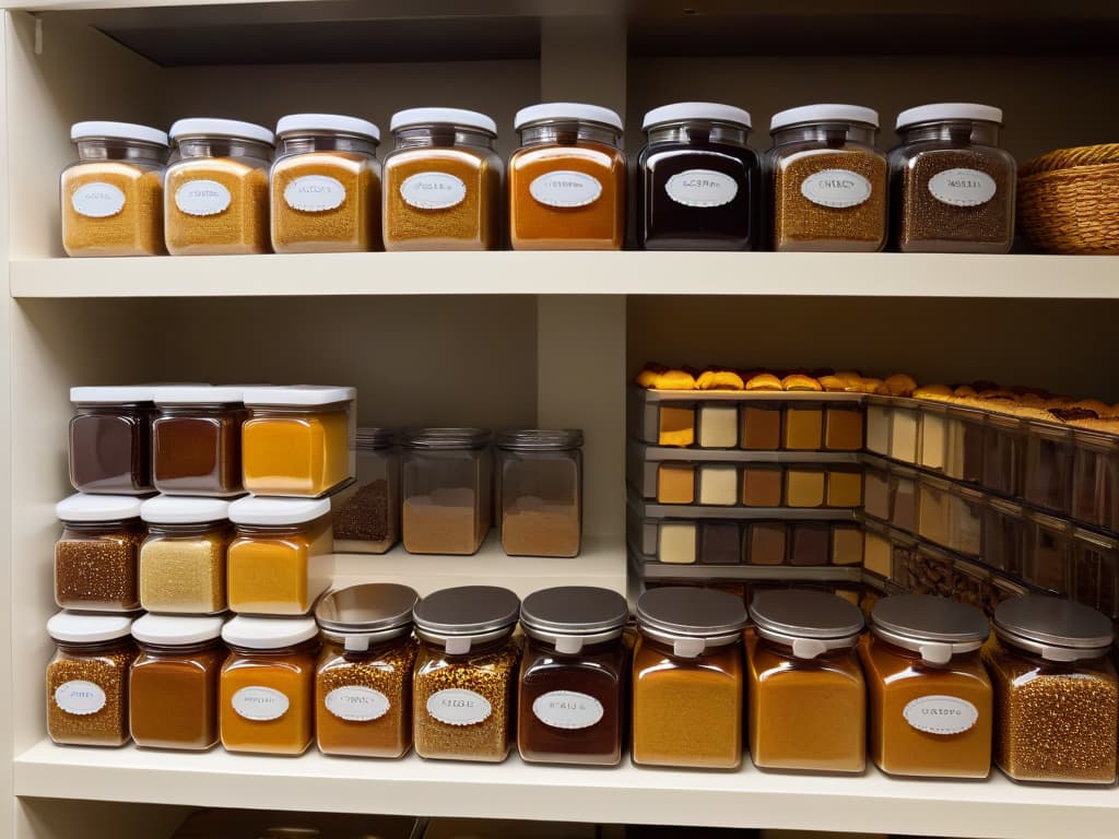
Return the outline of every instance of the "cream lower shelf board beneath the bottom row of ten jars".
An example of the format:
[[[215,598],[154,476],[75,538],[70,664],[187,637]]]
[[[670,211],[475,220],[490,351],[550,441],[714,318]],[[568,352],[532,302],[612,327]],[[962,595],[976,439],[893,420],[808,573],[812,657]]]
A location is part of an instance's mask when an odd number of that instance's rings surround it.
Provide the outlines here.
[[[769,827],[987,839],[1113,839],[1119,789],[736,772],[361,761],[139,750],[44,741],[15,762],[19,796],[323,812]]]

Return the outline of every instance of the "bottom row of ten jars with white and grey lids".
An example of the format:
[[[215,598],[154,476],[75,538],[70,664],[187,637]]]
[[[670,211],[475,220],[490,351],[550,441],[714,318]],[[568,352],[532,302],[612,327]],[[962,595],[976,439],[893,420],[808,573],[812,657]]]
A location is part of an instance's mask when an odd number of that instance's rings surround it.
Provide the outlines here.
[[[1056,598],[1005,601],[989,640],[955,601],[880,600],[864,634],[853,604],[797,590],[759,593],[745,633],[733,595],[650,590],[632,649],[626,601],[601,588],[519,603],[490,586],[417,601],[366,584],[316,618],[60,613],[50,736],[490,762],[516,743],[529,762],[614,765],[628,734],[639,765],[734,769],[745,718],[764,769],[862,772],[868,743],[894,775],[986,777],[994,756],[1015,780],[1116,780],[1111,625]]]

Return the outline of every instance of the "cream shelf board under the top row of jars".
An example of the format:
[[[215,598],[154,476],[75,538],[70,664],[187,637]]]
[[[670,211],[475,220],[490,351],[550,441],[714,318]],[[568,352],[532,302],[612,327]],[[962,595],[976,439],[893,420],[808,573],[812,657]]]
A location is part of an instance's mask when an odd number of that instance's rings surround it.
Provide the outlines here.
[[[1106,256],[425,252],[15,260],[16,298],[737,294],[1119,300]]]

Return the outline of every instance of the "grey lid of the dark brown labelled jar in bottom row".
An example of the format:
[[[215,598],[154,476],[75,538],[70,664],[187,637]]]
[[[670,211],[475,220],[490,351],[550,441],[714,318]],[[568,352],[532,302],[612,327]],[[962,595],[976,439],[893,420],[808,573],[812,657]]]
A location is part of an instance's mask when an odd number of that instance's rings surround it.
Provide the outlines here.
[[[565,585],[533,592],[520,604],[525,634],[575,653],[620,638],[629,618],[626,598],[609,588]]]

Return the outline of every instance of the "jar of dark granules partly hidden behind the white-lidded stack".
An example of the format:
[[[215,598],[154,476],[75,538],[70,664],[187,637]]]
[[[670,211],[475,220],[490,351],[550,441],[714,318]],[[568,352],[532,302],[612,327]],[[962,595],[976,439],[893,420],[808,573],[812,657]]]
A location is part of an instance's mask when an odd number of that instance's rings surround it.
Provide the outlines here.
[[[331,498],[335,550],[384,554],[399,538],[401,454],[388,428],[357,430],[357,480]]]

